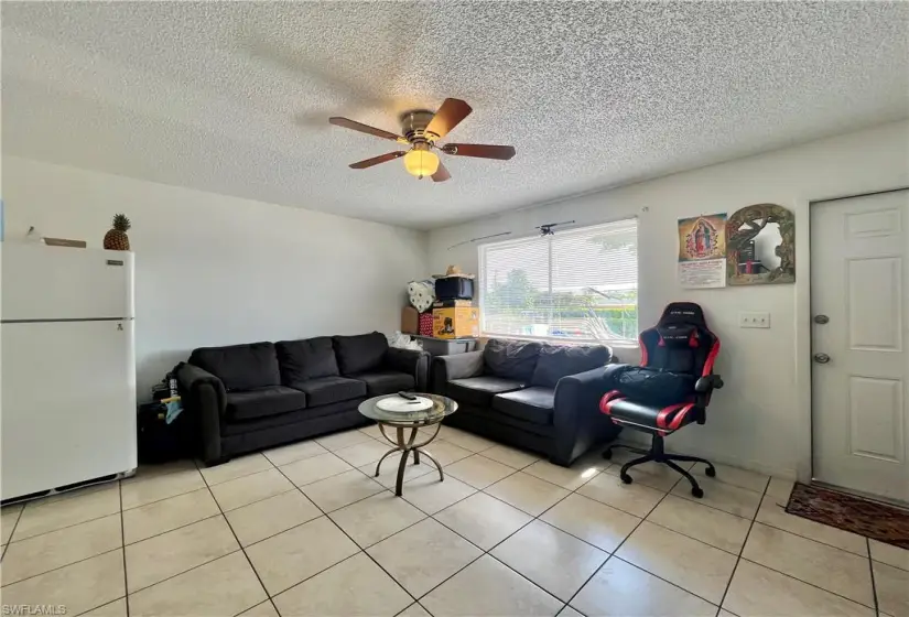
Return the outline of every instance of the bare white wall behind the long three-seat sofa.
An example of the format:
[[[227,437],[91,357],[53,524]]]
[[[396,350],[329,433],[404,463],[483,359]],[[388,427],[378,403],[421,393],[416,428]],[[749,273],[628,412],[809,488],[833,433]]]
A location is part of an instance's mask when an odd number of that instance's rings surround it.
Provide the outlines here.
[[[140,400],[194,347],[393,332],[429,274],[425,232],[15,156],[3,202],[8,242],[33,225],[101,247],[130,217]]]

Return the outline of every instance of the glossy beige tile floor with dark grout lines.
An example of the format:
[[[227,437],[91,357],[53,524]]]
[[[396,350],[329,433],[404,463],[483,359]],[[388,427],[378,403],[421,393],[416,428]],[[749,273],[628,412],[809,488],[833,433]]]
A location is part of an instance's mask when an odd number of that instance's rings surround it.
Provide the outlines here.
[[[0,511],[3,605],[67,615],[909,615],[909,551],[787,515],[791,483],[717,465],[694,499],[443,427],[394,497],[375,427]],[[722,609],[721,609],[722,607]]]

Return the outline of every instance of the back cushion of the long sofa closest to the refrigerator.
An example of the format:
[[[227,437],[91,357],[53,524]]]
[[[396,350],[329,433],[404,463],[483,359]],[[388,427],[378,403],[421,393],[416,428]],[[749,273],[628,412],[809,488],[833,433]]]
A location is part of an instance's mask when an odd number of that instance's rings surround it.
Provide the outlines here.
[[[271,343],[201,347],[193,350],[190,364],[220,379],[228,392],[281,385],[278,355]]]

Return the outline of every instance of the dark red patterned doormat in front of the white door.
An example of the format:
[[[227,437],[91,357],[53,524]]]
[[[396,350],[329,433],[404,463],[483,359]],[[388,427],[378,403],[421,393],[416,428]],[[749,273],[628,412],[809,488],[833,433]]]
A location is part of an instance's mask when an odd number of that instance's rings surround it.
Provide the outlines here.
[[[796,483],[786,511],[872,540],[909,549],[909,510],[896,506]]]

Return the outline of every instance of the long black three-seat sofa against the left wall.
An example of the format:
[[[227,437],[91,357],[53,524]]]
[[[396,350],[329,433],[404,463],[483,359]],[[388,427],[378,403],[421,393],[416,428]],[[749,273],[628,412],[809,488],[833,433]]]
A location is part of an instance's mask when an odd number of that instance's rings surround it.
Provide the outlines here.
[[[423,390],[429,355],[385,335],[334,336],[195,349],[176,369],[184,413],[207,465],[368,424],[367,398]]]

